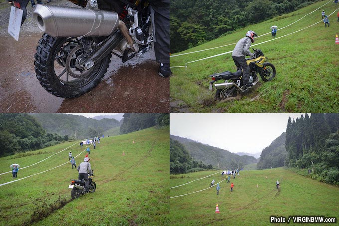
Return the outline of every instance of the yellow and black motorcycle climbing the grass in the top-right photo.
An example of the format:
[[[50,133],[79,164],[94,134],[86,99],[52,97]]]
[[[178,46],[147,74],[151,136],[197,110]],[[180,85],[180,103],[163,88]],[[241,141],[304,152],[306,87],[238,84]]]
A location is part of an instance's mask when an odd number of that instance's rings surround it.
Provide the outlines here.
[[[246,62],[250,67],[249,82],[253,86],[259,81],[259,76],[265,82],[271,81],[276,75],[276,69],[273,64],[266,61],[264,53],[260,49],[253,50],[254,57],[246,58]],[[209,90],[212,91],[213,84],[216,88],[215,97],[219,100],[235,97],[237,92],[243,93],[249,88],[245,88],[242,82],[242,70],[236,72],[225,71],[210,75],[212,81],[209,82]],[[222,83],[215,83],[219,80],[224,80]]]

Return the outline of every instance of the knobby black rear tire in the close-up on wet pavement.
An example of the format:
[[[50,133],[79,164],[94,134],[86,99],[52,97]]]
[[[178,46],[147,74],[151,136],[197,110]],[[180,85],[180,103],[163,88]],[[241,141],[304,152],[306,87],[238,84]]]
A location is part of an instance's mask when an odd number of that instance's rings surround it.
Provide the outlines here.
[[[92,38],[94,40],[98,38]],[[76,57],[81,54],[82,46],[76,37],[53,38],[48,34],[43,34],[39,40],[34,55],[35,73],[41,86],[49,93],[57,97],[74,98],[93,89],[104,77],[111,54],[108,54],[101,62],[97,62],[90,72],[79,70],[75,67]],[[78,47],[77,52],[73,52],[74,59],[68,61],[72,68],[78,73],[75,77],[68,75],[65,65],[67,56]],[[87,74],[86,74],[87,73]],[[86,75],[84,75],[86,74]]]

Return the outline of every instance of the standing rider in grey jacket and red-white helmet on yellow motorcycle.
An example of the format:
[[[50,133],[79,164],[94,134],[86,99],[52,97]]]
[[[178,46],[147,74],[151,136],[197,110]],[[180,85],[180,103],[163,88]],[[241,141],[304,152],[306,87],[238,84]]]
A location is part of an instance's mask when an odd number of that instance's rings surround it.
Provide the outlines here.
[[[250,67],[246,63],[245,56],[254,56],[254,54],[249,50],[251,43],[254,42],[254,37],[258,37],[254,31],[247,31],[246,37],[238,41],[232,53],[235,66],[237,66],[238,70],[242,68],[242,82],[244,87],[253,86],[253,84],[249,82]]]

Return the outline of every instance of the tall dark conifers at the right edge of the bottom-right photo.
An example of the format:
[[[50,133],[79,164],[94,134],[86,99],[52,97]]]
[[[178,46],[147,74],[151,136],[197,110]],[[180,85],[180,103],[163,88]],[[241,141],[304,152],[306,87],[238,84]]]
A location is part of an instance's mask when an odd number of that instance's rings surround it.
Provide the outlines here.
[[[289,118],[286,129],[286,164],[301,174],[339,185],[339,114],[312,113]],[[304,169],[304,170],[303,170]]]

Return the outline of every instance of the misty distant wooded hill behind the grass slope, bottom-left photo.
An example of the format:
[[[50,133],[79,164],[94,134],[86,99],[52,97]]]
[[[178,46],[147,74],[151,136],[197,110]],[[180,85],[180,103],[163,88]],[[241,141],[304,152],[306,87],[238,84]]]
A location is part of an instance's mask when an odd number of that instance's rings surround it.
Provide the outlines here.
[[[95,120],[84,116],[62,113],[31,113],[31,116],[42,125],[48,133],[59,135],[76,136],[77,139],[85,139],[104,135],[104,131],[119,127],[120,122],[116,119]]]

